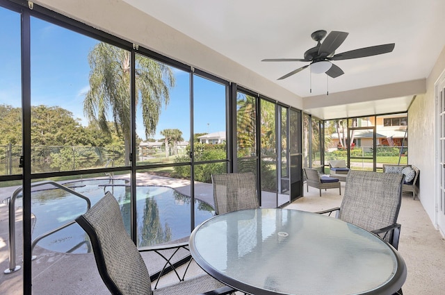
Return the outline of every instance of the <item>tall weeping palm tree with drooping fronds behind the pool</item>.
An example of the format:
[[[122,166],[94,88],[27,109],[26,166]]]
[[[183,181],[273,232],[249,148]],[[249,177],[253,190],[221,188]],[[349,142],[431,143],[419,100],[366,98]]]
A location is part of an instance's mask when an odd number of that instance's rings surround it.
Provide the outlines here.
[[[104,42],[98,43],[88,55],[90,90],[83,101],[83,112],[93,124],[110,134],[108,121],[124,139],[125,155],[130,151],[130,52]],[[153,135],[162,106],[170,100],[169,89],[175,85],[173,71],[167,65],[136,54],[136,106],[143,114],[145,136]],[[109,119],[111,117],[111,119]],[[125,157],[129,165],[129,157]]]

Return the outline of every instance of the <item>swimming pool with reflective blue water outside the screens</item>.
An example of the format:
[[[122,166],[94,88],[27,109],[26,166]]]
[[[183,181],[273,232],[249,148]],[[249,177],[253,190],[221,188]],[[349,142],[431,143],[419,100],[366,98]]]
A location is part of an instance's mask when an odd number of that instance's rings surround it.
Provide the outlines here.
[[[87,196],[94,205],[106,191],[113,193],[120,204],[127,232],[130,229],[130,187],[125,180],[80,180],[67,187]],[[31,211],[35,216],[33,239],[53,230],[86,212],[86,201],[62,189],[41,189],[31,194]],[[195,224],[213,216],[211,205],[195,200]],[[162,186],[136,187],[136,220],[138,246],[172,242],[190,235],[191,198],[175,189]],[[37,244],[51,251],[69,253],[90,252],[88,235],[78,224],[72,224]]]

